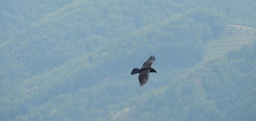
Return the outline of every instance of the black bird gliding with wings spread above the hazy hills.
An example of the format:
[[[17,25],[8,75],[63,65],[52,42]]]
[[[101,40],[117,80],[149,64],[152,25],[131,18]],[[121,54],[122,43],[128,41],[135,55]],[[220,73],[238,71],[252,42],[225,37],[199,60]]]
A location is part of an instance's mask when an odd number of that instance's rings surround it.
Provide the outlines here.
[[[155,62],[155,57],[150,56],[150,58],[146,62],[143,63],[143,65],[140,69],[135,68],[132,70],[131,75],[140,73],[140,75],[139,75],[140,87],[144,86],[148,82],[150,72],[156,72],[156,70],[151,67],[153,62]]]

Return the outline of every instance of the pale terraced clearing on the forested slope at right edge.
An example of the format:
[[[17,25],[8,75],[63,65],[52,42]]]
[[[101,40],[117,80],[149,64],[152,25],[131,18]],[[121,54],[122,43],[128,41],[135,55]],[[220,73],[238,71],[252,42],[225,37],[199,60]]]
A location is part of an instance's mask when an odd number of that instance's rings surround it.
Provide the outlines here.
[[[221,57],[228,51],[238,50],[243,45],[252,44],[255,39],[255,28],[228,25],[228,30],[223,37],[207,42],[205,45],[204,59]]]

